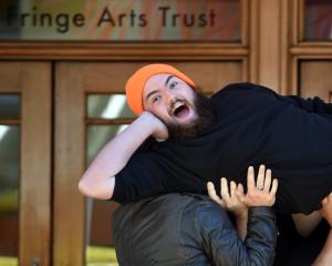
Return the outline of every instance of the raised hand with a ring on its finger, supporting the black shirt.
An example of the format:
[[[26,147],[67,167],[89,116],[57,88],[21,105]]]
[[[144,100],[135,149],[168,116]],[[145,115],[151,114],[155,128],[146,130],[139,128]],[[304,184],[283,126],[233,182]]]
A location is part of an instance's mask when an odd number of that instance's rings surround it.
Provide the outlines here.
[[[253,167],[248,168],[247,174],[247,194],[240,195],[240,200],[248,206],[272,206],[276,202],[276,193],[278,188],[278,180],[273,180],[272,187],[271,170],[266,171],[264,165],[260,165],[257,181],[255,182]]]

